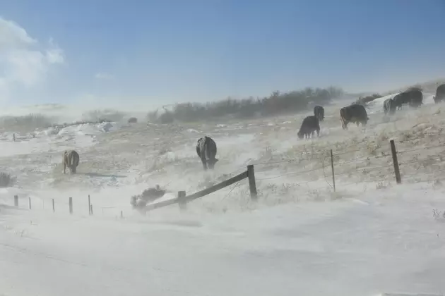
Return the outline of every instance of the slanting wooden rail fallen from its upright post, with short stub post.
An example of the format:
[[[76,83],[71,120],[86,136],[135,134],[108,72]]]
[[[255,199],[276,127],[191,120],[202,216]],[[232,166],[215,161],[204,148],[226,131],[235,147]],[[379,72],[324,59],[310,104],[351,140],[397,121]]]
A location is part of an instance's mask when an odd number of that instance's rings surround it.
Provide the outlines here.
[[[244,172],[240,173],[239,175],[235,175],[235,177],[232,177],[228,180],[218,183],[217,185],[213,185],[212,187],[208,187],[204,190],[195,192],[192,195],[185,195],[185,191],[179,191],[178,197],[176,197],[174,199],[164,200],[162,202],[156,202],[154,204],[148,204],[142,210],[143,211],[153,211],[154,209],[159,209],[164,206],[170,206],[172,204],[179,204],[179,206],[182,209],[185,209],[187,202],[191,202],[191,201],[198,199],[200,197],[210,195],[210,193],[213,193],[215,191],[223,189],[224,187],[230,186],[230,185],[237,183],[240,180],[243,180],[245,178],[249,178],[250,197],[252,200],[256,201],[257,193],[256,193],[254,166],[249,165],[249,166],[247,166],[247,171],[244,171]]]

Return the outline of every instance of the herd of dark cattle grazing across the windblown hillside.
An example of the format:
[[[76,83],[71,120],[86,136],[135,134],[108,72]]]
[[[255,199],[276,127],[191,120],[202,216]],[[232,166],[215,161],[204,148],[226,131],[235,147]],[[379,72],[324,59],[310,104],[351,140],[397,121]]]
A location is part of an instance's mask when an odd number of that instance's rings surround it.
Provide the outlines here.
[[[433,97],[437,104],[440,101],[445,101],[445,84],[439,85],[436,90],[436,95]],[[396,109],[402,109],[402,105],[408,104],[411,107],[417,108],[423,103],[422,91],[417,88],[411,88],[405,92],[396,94],[396,96],[386,99],[384,101],[384,113],[392,115]],[[348,123],[356,123],[359,126],[367,125],[369,118],[366,109],[362,104],[352,103],[340,109],[340,122],[343,130],[348,130]],[[307,116],[303,119],[302,125],[297,132],[300,139],[304,137],[314,137],[316,132],[317,137],[320,135],[320,122],[324,121],[324,108],[322,106],[314,107],[314,115]],[[201,137],[196,143],[196,154],[201,159],[204,171],[208,169],[213,170],[218,159],[215,158],[217,152],[215,141],[208,136]],[[79,164],[79,154],[74,150],[65,151],[63,154],[64,173],[66,168],[69,168],[71,173],[76,173],[76,167]]]

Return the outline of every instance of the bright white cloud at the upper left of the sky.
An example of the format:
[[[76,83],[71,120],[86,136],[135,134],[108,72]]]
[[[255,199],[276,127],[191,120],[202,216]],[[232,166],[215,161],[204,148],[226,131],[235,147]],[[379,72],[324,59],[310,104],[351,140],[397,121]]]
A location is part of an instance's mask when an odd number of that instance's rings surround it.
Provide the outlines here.
[[[64,61],[64,52],[52,39],[44,47],[23,27],[0,17],[0,94],[11,94],[16,87],[39,85],[49,68]]]

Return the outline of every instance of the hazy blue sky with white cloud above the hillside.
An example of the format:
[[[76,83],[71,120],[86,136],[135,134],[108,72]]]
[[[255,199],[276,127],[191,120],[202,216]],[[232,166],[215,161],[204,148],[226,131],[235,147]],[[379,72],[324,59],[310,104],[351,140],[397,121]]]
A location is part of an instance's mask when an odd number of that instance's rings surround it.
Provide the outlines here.
[[[443,78],[443,0],[0,0],[0,102],[160,106]]]

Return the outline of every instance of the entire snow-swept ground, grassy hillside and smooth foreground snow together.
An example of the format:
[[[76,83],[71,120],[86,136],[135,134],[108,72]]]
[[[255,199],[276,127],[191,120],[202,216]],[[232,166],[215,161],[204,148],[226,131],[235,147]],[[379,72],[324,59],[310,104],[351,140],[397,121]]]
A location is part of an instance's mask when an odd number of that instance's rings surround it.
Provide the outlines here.
[[[4,132],[0,171],[17,180],[0,189],[0,295],[441,295],[444,105],[425,94],[420,109],[385,117],[384,99],[369,106],[365,129],[341,128],[338,111],[348,103],[326,107],[314,140],[296,137],[310,112],[72,125],[16,133],[16,142]],[[196,156],[202,135],[218,144],[215,171],[205,173]],[[79,152],[78,174],[62,173],[64,149]],[[187,211],[131,209],[131,195],[147,187],[164,187],[165,199],[190,194],[247,164],[255,164],[258,203],[242,180]]]

